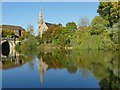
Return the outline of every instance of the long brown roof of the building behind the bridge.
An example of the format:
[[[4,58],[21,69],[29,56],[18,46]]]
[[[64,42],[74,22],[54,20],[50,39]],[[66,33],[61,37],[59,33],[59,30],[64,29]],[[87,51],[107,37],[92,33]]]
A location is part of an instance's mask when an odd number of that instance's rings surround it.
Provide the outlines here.
[[[1,28],[1,26],[0,26]],[[25,31],[24,28],[21,26],[14,26],[14,25],[2,25],[2,30],[22,30]]]

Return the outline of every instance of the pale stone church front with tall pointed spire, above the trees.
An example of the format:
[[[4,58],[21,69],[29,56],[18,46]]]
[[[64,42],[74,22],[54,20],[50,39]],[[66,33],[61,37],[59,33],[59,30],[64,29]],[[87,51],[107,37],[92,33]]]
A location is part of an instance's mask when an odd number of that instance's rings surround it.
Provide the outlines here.
[[[39,13],[39,19],[38,19],[38,32],[40,37],[42,37],[42,34],[47,31],[48,26],[45,24],[45,22],[43,21],[43,17],[42,17],[42,9],[40,10]]]

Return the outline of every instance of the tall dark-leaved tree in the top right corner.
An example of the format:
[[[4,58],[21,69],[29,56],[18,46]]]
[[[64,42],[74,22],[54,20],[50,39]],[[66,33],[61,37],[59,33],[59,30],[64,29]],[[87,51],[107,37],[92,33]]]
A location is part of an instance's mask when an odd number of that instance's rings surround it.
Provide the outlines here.
[[[109,21],[109,26],[113,26],[120,18],[120,2],[100,2],[97,12],[100,17]]]

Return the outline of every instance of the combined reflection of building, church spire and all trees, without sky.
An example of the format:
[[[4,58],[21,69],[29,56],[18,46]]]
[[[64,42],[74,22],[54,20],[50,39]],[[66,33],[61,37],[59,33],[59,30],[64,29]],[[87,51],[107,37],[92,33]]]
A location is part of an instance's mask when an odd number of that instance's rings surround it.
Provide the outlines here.
[[[29,67],[33,70],[35,64],[31,60],[35,59],[36,52],[12,52],[13,54],[9,54],[8,57],[2,57],[2,68],[14,68],[29,62]],[[93,73],[102,89],[115,88],[119,90],[120,88],[120,56],[118,52],[52,50],[49,52],[39,51],[37,57],[42,85],[45,71],[49,69],[66,69],[70,74],[75,74],[78,71],[82,78],[87,78],[90,73]]]

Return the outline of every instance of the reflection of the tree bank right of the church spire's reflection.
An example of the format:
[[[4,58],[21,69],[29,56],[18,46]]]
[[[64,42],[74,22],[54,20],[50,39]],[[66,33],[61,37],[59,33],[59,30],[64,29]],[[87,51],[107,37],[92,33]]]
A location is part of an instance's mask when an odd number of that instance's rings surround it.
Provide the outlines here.
[[[118,52],[54,50],[40,51],[38,58],[41,60],[41,57],[48,68],[65,68],[69,73],[79,71],[83,78],[92,72],[101,88],[119,88]]]

